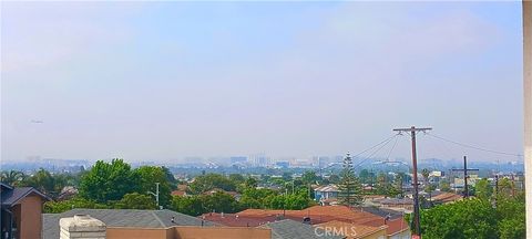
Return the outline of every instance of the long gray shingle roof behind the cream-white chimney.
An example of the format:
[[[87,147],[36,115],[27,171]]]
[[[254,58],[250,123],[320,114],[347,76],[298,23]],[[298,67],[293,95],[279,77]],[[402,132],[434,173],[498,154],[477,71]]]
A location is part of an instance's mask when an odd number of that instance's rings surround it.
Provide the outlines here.
[[[90,215],[103,221],[108,227],[167,228],[173,226],[202,226],[202,219],[166,209],[72,209],[62,214],[43,214],[42,238],[58,239],[59,219],[73,217],[74,215]],[[172,217],[174,217],[175,222],[172,222]],[[215,224],[205,221],[205,226],[215,226]]]

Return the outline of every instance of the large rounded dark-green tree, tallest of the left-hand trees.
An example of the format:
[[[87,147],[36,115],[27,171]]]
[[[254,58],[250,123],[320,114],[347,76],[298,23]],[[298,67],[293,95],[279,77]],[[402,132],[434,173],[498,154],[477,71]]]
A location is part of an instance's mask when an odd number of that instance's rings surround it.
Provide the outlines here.
[[[120,200],[124,195],[139,191],[141,177],[131,170],[123,159],[111,163],[96,162],[91,170],[83,176],[80,185],[80,196],[96,202]]]

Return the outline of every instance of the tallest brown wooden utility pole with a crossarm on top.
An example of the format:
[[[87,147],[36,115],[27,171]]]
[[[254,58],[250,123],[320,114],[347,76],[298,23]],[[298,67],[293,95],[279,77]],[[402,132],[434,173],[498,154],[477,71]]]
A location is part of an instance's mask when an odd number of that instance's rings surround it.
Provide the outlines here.
[[[413,235],[421,236],[421,221],[419,217],[419,189],[418,189],[418,155],[416,153],[416,133],[431,131],[430,127],[417,128],[412,126],[410,128],[395,128],[395,132],[410,133],[412,141],[412,180],[413,180]]]

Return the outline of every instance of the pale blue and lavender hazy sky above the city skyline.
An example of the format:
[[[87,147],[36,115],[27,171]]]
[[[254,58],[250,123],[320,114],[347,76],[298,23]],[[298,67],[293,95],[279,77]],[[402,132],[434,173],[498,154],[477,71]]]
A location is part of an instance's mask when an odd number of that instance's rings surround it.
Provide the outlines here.
[[[1,157],[338,155],[410,125],[521,153],[521,22],[520,1],[2,1]]]

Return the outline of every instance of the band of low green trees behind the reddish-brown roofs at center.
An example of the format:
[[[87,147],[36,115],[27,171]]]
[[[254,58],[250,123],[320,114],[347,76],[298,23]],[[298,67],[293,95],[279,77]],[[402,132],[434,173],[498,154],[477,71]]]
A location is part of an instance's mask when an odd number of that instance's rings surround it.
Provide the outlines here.
[[[272,178],[268,178],[272,179]],[[257,188],[253,177],[232,174],[205,174],[194,178],[188,185],[187,196],[174,196],[172,208],[175,211],[198,216],[205,212],[236,212],[248,208],[262,209],[304,209],[315,205],[311,189],[301,179],[282,179],[278,189]],[[289,189],[288,189],[289,188]],[[215,190],[214,194],[207,194]],[[216,191],[218,190],[218,191]],[[239,200],[225,191],[238,194]]]

